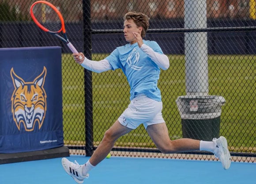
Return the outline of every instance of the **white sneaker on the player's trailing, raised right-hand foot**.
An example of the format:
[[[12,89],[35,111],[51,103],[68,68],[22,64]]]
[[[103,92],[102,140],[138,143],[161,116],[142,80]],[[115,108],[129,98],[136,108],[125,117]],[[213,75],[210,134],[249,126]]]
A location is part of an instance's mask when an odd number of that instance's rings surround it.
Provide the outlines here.
[[[227,139],[220,136],[218,139],[214,138],[212,140],[215,144],[214,155],[218,158],[224,169],[229,169],[231,164],[230,151],[228,150]]]

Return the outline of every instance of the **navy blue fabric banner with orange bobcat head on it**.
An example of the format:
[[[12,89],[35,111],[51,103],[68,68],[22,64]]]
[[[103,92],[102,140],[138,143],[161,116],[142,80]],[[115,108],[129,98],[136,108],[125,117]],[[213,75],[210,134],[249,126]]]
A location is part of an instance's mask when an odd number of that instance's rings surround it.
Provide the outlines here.
[[[0,49],[0,153],[63,146],[61,48]]]

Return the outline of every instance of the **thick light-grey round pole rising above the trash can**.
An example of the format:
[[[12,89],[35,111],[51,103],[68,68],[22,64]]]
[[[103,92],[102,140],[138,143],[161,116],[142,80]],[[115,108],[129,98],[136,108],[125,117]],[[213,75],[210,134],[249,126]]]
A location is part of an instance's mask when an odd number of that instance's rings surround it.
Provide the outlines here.
[[[184,28],[207,28],[206,0],[184,0]],[[207,33],[185,33],[184,41],[187,95],[207,95]]]

